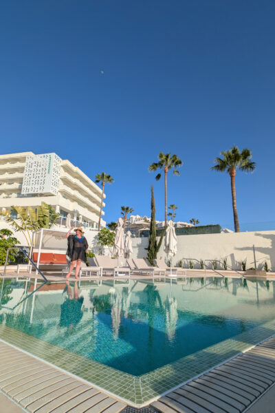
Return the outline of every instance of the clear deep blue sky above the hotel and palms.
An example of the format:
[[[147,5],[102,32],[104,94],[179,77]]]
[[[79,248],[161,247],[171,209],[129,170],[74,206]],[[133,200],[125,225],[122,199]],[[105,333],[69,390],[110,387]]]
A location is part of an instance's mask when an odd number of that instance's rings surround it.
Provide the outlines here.
[[[210,167],[248,147],[239,220],[274,225],[274,20],[265,0],[1,2],[1,153],[54,151],[90,178],[110,173],[107,222],[121,205],[149,215],[151,184],[164,219],[148,166],[176,153],[177,218],[232,226],[230,178]]]

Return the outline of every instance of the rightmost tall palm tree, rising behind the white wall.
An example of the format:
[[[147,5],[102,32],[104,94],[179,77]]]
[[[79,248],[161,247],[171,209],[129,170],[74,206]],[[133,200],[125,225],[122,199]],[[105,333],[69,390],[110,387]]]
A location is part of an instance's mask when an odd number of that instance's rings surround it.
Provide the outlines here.
[[[234,215],[234,227],[235,232],[240,232],[239,218],[236,211],[236,187],[235,176],[236,169],[240,169],[243,172],[253,172],[256,163],[252,162],[252,153],[250,149],[243,149],[241,152],[239,148],[234,146],[226,152],[221,152],[223,158],[215,158],[216,165],[211,169],[218,172],[228,172],[231,178],[231,193],[232,193],[232,207]]]

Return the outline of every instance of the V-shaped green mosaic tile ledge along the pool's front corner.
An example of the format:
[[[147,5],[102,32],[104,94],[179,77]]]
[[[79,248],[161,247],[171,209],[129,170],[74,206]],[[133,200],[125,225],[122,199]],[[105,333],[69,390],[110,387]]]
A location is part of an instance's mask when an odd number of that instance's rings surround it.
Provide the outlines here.
[[[197,377],[272,335],[275,335],[275,320],[153,372],[135,377],[0,325],[0,338],[6,343],[72,373],[135,407],[147,405],[185,381]]]

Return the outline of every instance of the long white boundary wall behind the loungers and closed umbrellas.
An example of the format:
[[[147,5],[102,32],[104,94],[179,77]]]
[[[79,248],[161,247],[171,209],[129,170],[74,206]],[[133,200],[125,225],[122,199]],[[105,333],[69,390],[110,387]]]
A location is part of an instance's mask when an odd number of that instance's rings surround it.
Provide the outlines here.
[[[261,268],[266,261],[268,268],[275,271],[275,231],[178,235],[177,254],[173,257],[173,265],[182,258],[222,260],[227,257],[228,265],[234,269],[241,269],[239,262],[245,258],[247,258],[247,268],[254,267],[253,244],[257,268]],[[147,246],[148,238],[133,238],[133,257],[147,257],[145,249]],[[160,257],[166,258],[163,244],[157,254],[157,258]],[[187,260],[184,266],[187,268]],[[195,268],[196,266],[199,268],[199,264],[195,265]]]

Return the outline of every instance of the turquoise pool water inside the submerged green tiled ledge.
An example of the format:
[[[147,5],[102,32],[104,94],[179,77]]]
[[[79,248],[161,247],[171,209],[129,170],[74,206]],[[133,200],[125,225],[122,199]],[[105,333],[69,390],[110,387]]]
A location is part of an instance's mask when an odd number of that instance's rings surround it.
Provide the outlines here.
[[[5,280],[0,323],[140,376],[274,319],[275,282]]]

